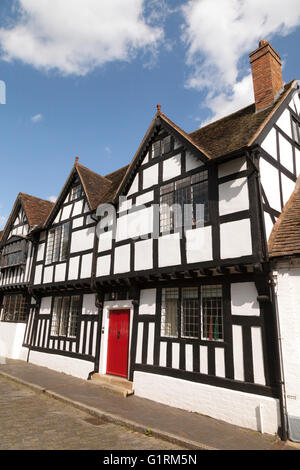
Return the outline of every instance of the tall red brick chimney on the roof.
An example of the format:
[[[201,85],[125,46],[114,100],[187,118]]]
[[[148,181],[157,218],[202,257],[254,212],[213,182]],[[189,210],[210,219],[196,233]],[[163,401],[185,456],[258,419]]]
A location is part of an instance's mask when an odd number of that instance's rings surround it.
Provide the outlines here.
[[[281,59],[268,41],[249,55],[256,111],[270,106],[283,88]]]

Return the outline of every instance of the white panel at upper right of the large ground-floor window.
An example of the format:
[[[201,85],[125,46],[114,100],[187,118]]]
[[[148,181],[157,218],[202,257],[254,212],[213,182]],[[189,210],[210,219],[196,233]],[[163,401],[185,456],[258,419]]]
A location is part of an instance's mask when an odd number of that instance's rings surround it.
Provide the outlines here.
[[[254,282],[233,282],[231,284],[232,315],[259,316],[257,296]]]

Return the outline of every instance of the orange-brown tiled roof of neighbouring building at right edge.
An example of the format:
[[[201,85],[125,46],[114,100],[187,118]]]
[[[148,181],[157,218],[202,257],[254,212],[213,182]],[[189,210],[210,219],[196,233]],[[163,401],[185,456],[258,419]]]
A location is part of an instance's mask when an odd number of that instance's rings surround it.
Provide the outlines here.
[[[300,254],[300,177],[268,241],[271,258]]]

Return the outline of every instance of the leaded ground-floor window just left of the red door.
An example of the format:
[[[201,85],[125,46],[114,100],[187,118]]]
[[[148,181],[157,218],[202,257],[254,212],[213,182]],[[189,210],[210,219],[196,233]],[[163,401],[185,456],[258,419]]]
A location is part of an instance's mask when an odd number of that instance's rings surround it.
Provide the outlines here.
[[[52,336],[76,337],[80,305],[79,295],[54,298],[51,323]]]

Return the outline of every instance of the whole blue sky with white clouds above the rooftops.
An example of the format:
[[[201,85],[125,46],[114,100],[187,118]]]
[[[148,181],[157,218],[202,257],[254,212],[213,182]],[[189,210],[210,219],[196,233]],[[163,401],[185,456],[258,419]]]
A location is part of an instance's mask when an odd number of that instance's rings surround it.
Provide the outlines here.
[[[19,192],[55,201],[75,156],[102,175],[127,165],[158,103],[186,132],[252,103],[259,40],[300,79],[300,1],[282,5],[1,0],[0,229]]]

